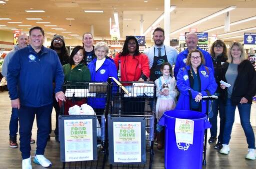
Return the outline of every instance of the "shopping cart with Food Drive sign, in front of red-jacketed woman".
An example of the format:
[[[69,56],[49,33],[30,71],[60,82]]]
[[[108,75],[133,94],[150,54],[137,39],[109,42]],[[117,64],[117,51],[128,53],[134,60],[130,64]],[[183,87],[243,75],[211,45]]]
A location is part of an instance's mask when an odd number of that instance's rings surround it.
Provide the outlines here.
[[[117,90],[111,94],[107,120],[110,169],[151,169],[156,86],[121,82],[111,88]]]

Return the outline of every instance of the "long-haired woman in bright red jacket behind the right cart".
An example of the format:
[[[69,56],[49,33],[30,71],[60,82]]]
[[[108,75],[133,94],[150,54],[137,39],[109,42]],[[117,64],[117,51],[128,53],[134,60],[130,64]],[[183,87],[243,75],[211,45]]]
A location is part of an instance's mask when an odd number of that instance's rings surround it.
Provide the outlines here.
[[[134,36],[128,36],[125,39],[122,51],[115,56],[114,63],[117,70],[120,69],[120,81],[122,82],[143,83],[149,77],[148,58],[139,52],[138,42]],[[122,98],[122,113],[143,115],[144,102],[145,99],[140,96]]]

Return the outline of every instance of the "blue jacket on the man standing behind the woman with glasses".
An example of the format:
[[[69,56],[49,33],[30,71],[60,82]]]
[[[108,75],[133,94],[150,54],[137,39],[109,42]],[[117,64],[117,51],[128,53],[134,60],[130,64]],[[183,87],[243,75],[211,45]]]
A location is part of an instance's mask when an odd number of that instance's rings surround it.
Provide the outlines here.
[[[211,68],[212,72],[214,73],[214,67],[213,67],[213,63],[212,63],[210,54],[207,51],[202,50],[199,47],[197,47],[197,49],[200,50],[203,54],[203,57],[205,60],[205,66]],[[178,54],[176,63],[175,63],[175,67],[173,69],[173,74],[174,74],[175,79],[177,79],[178,70],[181,67],[185,67],[185,65],[186,65],[186,57],[187,57],[188,53],[189,53],[189,51],[188,51],[188,49],[186,49]]]

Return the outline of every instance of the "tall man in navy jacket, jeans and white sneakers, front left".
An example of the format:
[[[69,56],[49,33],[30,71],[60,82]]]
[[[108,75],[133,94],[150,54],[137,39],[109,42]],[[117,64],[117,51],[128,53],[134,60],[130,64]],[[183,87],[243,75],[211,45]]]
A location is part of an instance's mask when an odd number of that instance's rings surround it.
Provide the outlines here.
[[[38,26],[31,28],[29,41],[29,46],[14,53],[7,71],[11,107],[19,109],[22,169],[32,169],[30,138],[35,115],[37,141],[33,162],[42,167],[51,166],[50,161],[43,154],[49,134],[53,81],[55,81],[55,99],[65,100],[64,93],[61,91],[64,81],[62,66],[56,52],[42,45],[44,41],[43,29]]]

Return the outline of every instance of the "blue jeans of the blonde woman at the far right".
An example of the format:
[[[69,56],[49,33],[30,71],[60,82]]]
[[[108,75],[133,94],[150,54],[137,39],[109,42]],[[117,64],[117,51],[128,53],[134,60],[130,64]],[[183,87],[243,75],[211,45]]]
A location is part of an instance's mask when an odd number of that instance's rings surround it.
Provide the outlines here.
[[[250,107],[251,107],[251,104],[248,104],[248,103],[237,105],[241,126],[243,128],[244,134],[246,136],[246,141],[248,144],[248,149],[255,149],[254,133],[250,125]],[[228,145],[231,138],[230,135],[231,135],[232,126],[234,123],[235,108],[236,106],[232,105],[231,99],[228,98],[225,106],[225,125],[224,125],[223,143],[222,143],[225,145]]]

